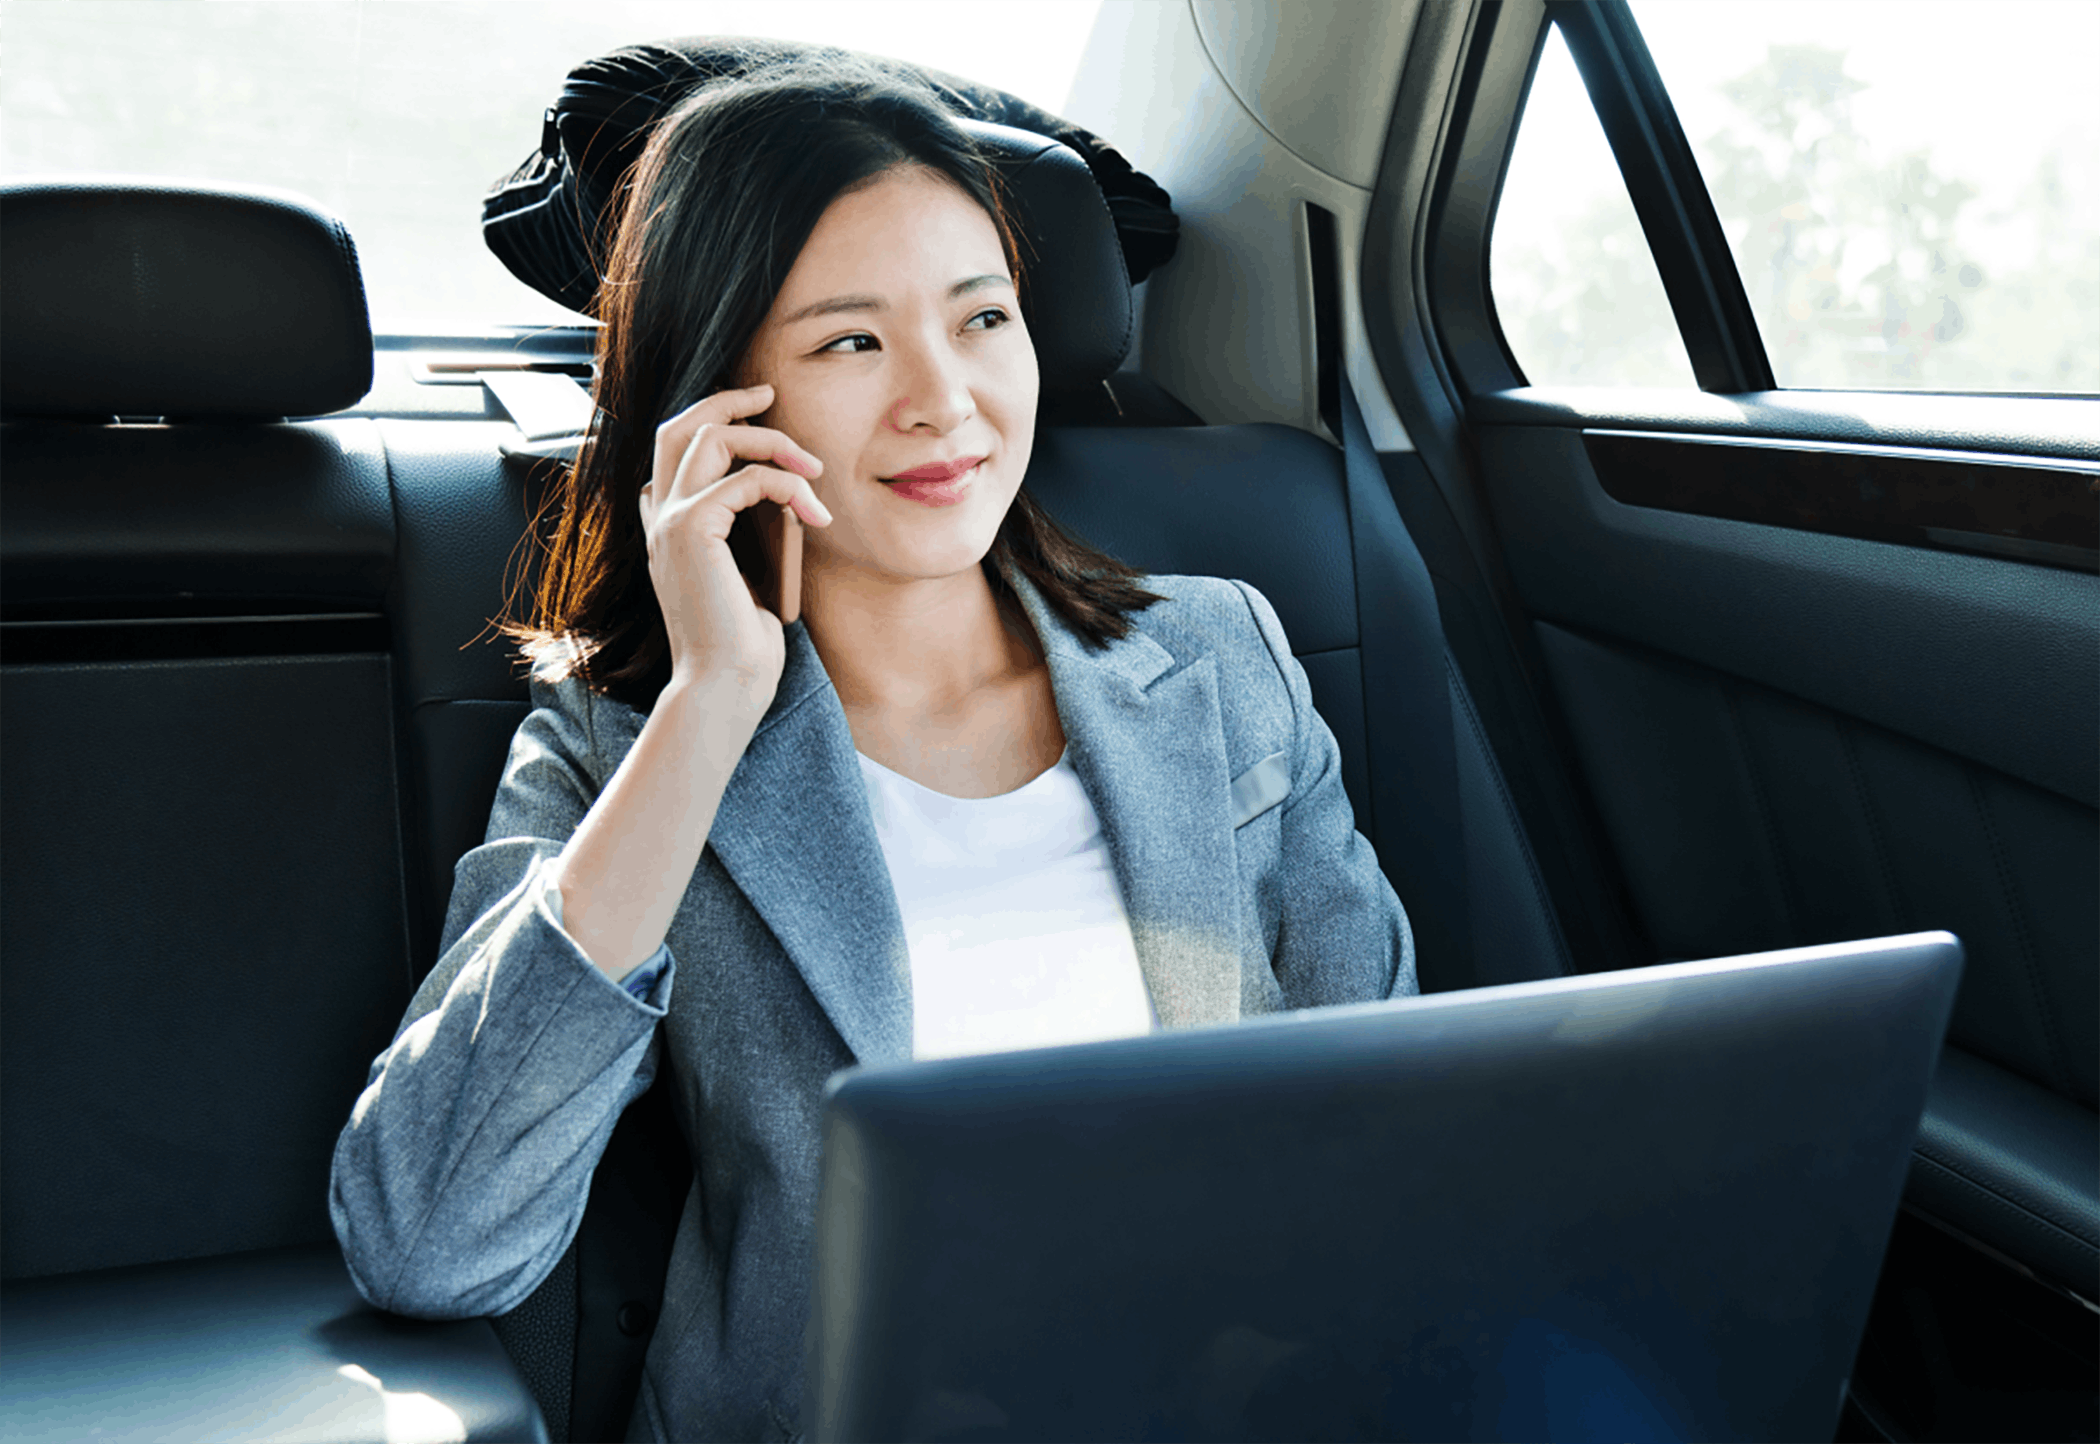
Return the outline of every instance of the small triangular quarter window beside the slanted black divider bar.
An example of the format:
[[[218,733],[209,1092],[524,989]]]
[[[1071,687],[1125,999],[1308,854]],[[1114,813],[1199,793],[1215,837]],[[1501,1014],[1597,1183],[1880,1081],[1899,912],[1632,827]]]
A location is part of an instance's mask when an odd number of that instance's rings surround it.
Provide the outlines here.
[[[1619,164],[1546,36],[1489,235],[1504,340],[1533,386],[1697,386]]]

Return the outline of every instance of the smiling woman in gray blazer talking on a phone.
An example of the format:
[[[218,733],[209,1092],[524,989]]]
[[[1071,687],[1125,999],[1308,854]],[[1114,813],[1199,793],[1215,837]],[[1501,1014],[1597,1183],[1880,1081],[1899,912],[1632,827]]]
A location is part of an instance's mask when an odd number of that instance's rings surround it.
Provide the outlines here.
[[[798,1431],[834,1070],[1413,991],[1268,602],[1021,491],[1012,258],[951,118],[848,71],[693,97],[632,183],[536,709],[332,1209],[374,1303],[506,1312],[668,1062],[643,1438]]]

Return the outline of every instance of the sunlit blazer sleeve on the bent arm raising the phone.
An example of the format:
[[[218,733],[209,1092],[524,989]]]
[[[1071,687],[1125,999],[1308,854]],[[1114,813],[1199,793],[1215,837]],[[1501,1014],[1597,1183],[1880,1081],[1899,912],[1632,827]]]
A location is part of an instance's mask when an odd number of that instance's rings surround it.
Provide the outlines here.
[[[395,1314],[504,1314],[540,1287],[655,1073],[674,963],[659,955],[643,997],[607,978],[563,932],[550,879],[603,781],[592,699],[573,693],[536,684],[487,842],[454,873],[443,953],[336,1140],[336,1238],[359,1293]]]

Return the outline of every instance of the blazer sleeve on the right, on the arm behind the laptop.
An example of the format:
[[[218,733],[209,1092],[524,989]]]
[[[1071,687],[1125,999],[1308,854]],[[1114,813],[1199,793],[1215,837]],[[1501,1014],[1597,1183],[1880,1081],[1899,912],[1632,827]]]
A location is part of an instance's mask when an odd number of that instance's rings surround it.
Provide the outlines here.
[[[1270,957],[1283,999],[1289,1007],[1323,1007],[1413,995],[1415,934],[1378,854],[1357,831],[1342,789],[1342,749],[1312,707],[1306,670],[1268,598],[1245,581],[1233,586],[1292,701],[1292,789],[1279,804],[1281,926]]]

